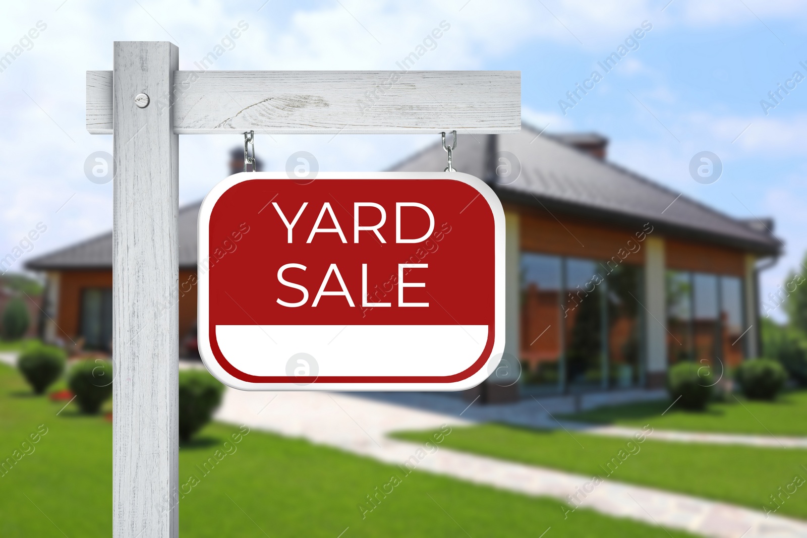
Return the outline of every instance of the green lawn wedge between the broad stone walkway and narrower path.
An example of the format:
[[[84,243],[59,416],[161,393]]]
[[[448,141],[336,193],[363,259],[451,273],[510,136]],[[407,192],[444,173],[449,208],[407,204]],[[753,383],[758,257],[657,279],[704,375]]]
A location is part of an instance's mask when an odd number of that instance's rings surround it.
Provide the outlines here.
[[[795,417],[794,417],[795,419]],[[803,420],[803,417],[801,418]],[[648,428],[649,429],[649,428]],[[420,441],[427,432],[403,432],[396,437]],[[574,436],[574,437],[572,437]],[[650,436],[652,437],[652,436]],[[796,475],[807,478],[807,450],[682,444],[646,439],[627,446],[629,439],[584,435],[563,430],[541,431],[500,424],[455,427],[444,445],[470,453],[563,469],[620,482],[714,498],[763,510],[771,494],[784,490]],[[620,450],[629,454],[607,467]],[[602,467],[600,467],[602,465]],[[802,465],[804,465],[802,467]],[[793,488],[791,488],[793,489]],[[779,515],[807,519],[807,491],[797,490],[782,504]]]

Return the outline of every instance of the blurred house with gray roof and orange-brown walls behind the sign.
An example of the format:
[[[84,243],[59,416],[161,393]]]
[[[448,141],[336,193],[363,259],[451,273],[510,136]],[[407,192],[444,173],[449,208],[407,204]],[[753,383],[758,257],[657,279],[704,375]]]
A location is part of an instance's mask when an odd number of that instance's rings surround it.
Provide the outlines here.
[[[531,392],[663,386],[677,361],[736,365],[759,350],[758,272],[773,223],[723,215],[606,161],[596,134],[460,135],[458,171],[499,195],[507,227],[507,351]],[[237,158],[232,166],[239,171]],[[393,171],[441,171],[440,144]],[[194,329],[199,204],[179,212],[182,337]],[[111,345],[111,233],[29,261],[47,273],[50,338]]]

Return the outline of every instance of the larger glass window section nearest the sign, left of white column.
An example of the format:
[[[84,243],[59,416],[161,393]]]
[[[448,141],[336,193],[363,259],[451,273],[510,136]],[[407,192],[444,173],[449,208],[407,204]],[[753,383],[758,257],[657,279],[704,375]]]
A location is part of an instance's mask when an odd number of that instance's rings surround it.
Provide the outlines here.
[[[638,265],[523,252],[525,382],[549,390],[640,384],[642,278]]]

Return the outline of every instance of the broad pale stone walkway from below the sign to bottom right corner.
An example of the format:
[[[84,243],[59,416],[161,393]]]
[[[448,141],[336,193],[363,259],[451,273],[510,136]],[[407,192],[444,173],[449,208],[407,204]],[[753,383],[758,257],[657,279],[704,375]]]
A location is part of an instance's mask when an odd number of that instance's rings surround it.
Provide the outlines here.
[[[437,429],[443,424],[469,426],[478,421],[476,415],[491,413],[485,410],[497,406],[480,406],[480,411],[475,413],[471,413],[471,406],[459,416],[404,406],[391,399],[394,398],[228,389],[215,418],[282,436],[302,437],[316,444],[341,448],[390,464],[403,465],[409,461],[410,466],[425,472],[521,494],[549,496],[565,502],[567,496],[575,494],[579,488],[591,489],[591,477],[460,453],[449,448],[437,448],[436,452],[419,458],[423,454],[422,450],[419,451],[420,445],[391,440],[387,434],[401,430]],[[448,402],[448,405],[457,403],[463,402],[458,400]],[[607,515],[714,538],[807,536],[807,523],[795,519],[776,515],[766,519],[761,511],[620,482],[602,482],[587,493],[581,506]],[[574,517],[574,514],[570,513],[568,517]]]

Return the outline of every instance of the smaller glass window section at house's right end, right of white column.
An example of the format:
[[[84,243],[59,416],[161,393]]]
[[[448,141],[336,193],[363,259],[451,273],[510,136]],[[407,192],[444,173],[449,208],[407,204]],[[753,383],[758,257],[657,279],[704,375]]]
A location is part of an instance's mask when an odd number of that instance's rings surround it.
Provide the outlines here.
[[[667,271],[667,358],[738,365],[745,356],[742,278]]]

